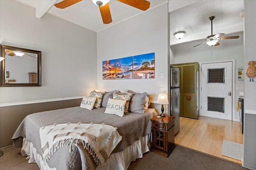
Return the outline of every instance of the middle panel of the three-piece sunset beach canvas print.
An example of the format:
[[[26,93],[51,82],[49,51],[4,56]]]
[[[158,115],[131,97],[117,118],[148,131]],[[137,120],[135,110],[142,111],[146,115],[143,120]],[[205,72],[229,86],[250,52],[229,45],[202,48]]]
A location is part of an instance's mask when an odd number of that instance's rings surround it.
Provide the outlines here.
[[[132,57],[116,59],[116,79],[132,79]]]

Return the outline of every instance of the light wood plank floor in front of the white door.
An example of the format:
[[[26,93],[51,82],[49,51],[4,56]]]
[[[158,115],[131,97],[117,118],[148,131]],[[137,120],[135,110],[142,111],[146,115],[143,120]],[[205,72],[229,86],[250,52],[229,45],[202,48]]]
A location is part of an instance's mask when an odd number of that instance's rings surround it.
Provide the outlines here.
[[[204,116],[198,120],[180,117],[180,131],[174,140],[177,145],[242,164],[221,154],[223,140],[243,143],[240,122]]]

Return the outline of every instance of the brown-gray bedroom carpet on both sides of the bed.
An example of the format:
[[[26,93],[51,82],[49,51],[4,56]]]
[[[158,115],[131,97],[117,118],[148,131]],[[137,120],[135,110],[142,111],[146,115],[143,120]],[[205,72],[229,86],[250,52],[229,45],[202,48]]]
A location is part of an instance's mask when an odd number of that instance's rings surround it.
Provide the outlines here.
[[[20,148],[4,149],[0,158],[0,170],[39,170],[37,164],[28,164]],[[128,170],[247,170],[241,165],[201,152],[176,146],[168,158],[153,152],[132,162]]]

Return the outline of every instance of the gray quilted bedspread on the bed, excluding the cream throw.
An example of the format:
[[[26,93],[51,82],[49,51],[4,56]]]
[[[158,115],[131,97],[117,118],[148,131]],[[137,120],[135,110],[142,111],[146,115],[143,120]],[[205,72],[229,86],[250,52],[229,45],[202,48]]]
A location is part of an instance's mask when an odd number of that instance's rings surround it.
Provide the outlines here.
[[[112,153],[120,152],[134,141],[151,133],[150,119],[157,115],[155,111],[146,111],[144,114],[130,113],[124,117],[104,113],[106,107],[99,109],[87,110],[81,107],[70,107],[52,111],[33,113],[24,118],[18,129],[14,133],[14,147],[22,147],[22,139],[26,138],[28,142],[33,143],[37,153],[41,155],[41,142],[39,129],[40,127],[53,125],[54,123],[105,123],[117,127],[118,133],[122,136],[122,141],[116,146]],[[66,145],[64,145],[66,146]],[[62,147],[52,156],[48,162],[50,168],[55,167],[57,170],[90,170],[95,169],[96,164],[88,152],[83,149],[82,145],[77,147],[73,144],[72,152],[69,147]]]

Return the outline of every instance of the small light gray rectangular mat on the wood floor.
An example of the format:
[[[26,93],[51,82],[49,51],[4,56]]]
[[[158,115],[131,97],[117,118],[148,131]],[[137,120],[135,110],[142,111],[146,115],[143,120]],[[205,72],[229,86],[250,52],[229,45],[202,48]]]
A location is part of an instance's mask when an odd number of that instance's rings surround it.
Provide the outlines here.
[[[231,141],[223,141],[222,155],[242,161],[244,145]]]

